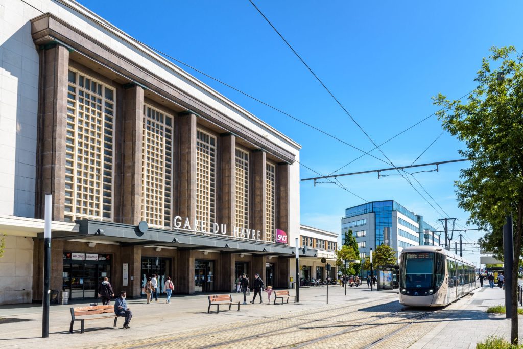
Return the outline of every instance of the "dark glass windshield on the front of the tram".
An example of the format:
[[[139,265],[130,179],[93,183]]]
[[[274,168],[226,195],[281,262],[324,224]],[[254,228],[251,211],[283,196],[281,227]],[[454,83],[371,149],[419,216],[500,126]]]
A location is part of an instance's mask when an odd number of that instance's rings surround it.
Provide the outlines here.
[[[401,287],[439,287],[445,277],[445,256],[433,252],[410,252],[401,256]]]

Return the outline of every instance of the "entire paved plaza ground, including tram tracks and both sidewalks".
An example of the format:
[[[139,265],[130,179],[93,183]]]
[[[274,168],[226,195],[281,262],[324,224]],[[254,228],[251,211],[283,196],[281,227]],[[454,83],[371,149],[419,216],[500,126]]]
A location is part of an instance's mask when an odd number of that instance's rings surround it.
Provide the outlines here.
[[[293,292],[293,290],[291,290]],[[264,297],[266,294],[264,292]],[[234,294],[233,298],[241,299]],[[474,348],[487,335],[508,337],[509,320],[487,314],[486,307],[503,303],[503,291],[484,287],[441,309],[403,307],[396,292],[367,287],[326,287],[300,290],[299,303],[242,305],[240,311],[207,313],[207,296],[174,297],[147,305],[129,300],[133,312],[131,329],[112,328],[112,319],[86,322],[86,332],[69,333],[71,305],[52,306],[50,336],[41,336],[41,307],[1,306],[0,318],[24,319],[0,322],[4,347],[43,348]],[[85,305],[85,304],[82,304]],[[72,306],[81,306],[72,305]],[[11,320],[13,321],[13,320]],[[523,330],[523,328],[522,328]]]

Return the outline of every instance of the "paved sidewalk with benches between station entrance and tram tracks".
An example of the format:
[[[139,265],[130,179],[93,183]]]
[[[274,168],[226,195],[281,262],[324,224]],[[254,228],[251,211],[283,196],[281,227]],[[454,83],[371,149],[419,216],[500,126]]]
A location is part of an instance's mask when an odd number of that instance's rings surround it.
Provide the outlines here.
[[[295,290],[290,290],[295,294]],[[243,295],[232,294],[233,300],[243,301]],[[247,297],[251,300],[253,294]],[[167,333],[185,332],[191,329],[202,329],[219,325],[230,325],[234,328],[242,322],[256,319],[288,316],[299,311],[317,312],[317,308],[326,306],[326,287],[309,287],[300,289],[300,302],[269,305],[267,294],[263,292],[264,304],[241,305],[240,311],[220,311],[219,314],[207,313],[209,305],[206,295],[177,296],[171,298],[170,305],[165,304],[165,298],[158,302],[147,304],[143,300],[128,300],[128,306],[133,312],[130,330],[122,330],[123,318],[118,319],[118,327],[112,328],[112,319],[88,321],[85,333],[80,334],[80,324],[75,324],[75,331],[69,333],[71,312],[69,308],[85,305],[55,305],[50,308],[49,338],[41,338],[41,305],[0,306],[0,318],[27,319],[16,323],[0,323],[0,345],[15,347],[64,347],[76,348],[93,345],[116,345],[129,340],[139,340],[147,337],[160,337]],[[273,296],[274,297],[274,296]],[[396,293],[370,292],[368,288],[348,288],[347,296],[340,286],[329,286],[329,306],[348,306],[365,303],[371,300],[394,301]],[[258,301],[258,300],[257,300]],[[114,304],[111,302],[111,304]],[[213,307],[215,308],[215,307]],[[234,307],[232,307],[234,309]],[[222,310],[222,308],[220,308]]]

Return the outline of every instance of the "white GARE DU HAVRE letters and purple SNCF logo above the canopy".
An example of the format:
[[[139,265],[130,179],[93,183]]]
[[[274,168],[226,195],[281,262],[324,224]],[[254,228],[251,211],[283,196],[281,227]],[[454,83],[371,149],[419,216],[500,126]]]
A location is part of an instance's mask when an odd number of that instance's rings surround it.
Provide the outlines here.
[[[188,217],[176,216],[173,219],[173,228],[178,230],[185,230],[188,232],[199,232],[204,234],[221,234],[229,235],[235,238],[242,238],[248,240],[263,241],[261,238],[261,231],[255,229],[246,229],[232,226],[227,234],[227,224],[211,223],[195,219],[191,221]],[[287,244],[287,233],[283,230],[276,229],[276,243]]]

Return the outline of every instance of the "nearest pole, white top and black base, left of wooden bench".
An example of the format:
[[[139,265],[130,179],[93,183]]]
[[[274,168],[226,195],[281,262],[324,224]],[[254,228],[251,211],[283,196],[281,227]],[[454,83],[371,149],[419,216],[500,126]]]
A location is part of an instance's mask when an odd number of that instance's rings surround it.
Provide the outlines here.
[[[43,230],[43,296],[42,296],[42,338],[49,337],[49,297],[51,278],[51,194],[46,194],[45,223]]]

